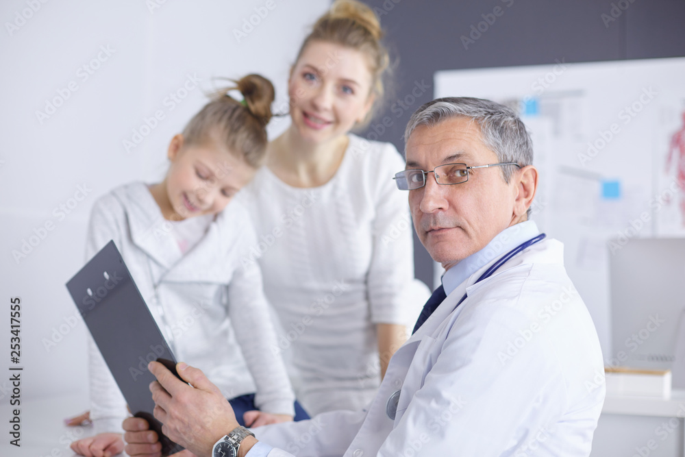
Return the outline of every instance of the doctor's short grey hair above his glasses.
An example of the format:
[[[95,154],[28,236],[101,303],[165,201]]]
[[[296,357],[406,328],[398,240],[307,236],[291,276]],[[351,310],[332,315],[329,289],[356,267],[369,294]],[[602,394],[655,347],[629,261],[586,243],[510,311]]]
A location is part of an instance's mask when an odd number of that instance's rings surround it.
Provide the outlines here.
[[[532,165],[533,142],[523,121],[511,108],[494,101],[471,97],[445,97],[425,103],[412,114],[404,132],[405,144],[419,125],[433,127],[452,117],[464,116],[478,123],[483,144],[497,154],[499,162]],[[502,166],[502,177],[508,184],[511,166]]]

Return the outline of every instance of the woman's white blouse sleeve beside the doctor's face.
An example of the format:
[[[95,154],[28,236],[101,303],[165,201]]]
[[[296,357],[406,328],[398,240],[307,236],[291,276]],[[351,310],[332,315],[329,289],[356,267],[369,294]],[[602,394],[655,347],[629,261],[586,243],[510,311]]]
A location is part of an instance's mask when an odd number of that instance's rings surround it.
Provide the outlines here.
[[[375,185],[373,253],[366,277],[371,321],[412,326],[430,291],[414,278],[414,230],[408,193],[399,190],[393,180],[395,173],[404,169],[404,162],[390,143],[369,153],[367,163],[372,166],[366,175]]]

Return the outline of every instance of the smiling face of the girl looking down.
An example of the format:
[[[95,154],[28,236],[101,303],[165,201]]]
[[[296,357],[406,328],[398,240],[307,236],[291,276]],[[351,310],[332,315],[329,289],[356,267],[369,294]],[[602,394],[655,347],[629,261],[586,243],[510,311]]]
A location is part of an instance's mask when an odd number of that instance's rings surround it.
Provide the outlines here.
[[[256,173],[228,149],[211,142],[186,146],[180,134],[171,140],[169,160],[166,194],[178,220],[221,212]]]

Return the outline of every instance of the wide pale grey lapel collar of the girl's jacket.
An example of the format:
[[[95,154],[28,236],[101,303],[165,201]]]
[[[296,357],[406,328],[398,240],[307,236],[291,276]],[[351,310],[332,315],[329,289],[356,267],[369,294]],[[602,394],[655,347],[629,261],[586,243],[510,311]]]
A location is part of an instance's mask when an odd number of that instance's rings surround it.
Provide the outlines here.
[[[157,202],[147,184],[134,183],[118,188],[114,195],[126,210],[131,239],[134,245],[158,262],[168,272],[164,280],[225,282],[225,269],[206,269],[208,264],[221,265],[225,262],[212,262],[216,256],[226,254],[225,240],[219,234],[217,221],[223,221],[223,214],[210,224],[205,236],[186,253],[182,254],[171,233],[171,225],[162,216]]]

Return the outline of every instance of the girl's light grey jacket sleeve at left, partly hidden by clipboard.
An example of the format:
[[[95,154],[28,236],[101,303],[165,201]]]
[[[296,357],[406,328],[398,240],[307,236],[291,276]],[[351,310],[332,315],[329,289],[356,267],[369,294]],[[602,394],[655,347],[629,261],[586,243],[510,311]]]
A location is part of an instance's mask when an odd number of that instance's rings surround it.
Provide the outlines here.
[[[125,234],[123,208],[111,196],[99,199],[90,213],[86,239],[86,260],[90,260],[104,245],[114,240],[121,246]],[[90,386],[90,419],[95,433],[123,433],[121,423],[128,417],[126,401],[116,385],[110,369],[88,333],[88,384]]]

